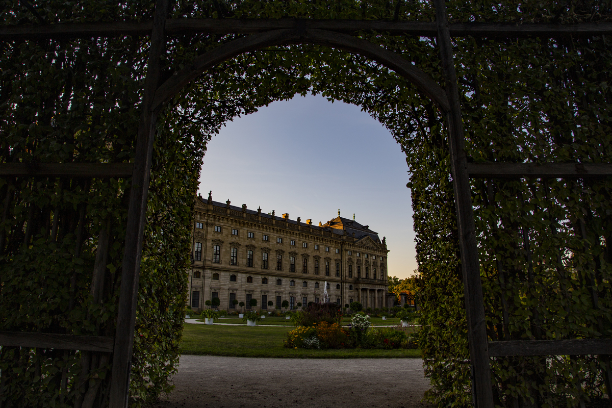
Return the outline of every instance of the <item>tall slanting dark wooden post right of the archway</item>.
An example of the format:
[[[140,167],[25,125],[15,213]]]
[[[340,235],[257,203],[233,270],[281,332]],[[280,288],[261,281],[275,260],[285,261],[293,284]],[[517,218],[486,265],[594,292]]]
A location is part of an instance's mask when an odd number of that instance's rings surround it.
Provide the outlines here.
[[[469,358],[472,371],[472,396],[476,408],[493,408],[493,390],[489,368],[487,343],[487,325],[482,299],[480,282],[480,263],[476,246],[476,226],[472,208],[471,188],[466,169],[463,122],[457,76],[453,62],[452,43],[446,20],[444,0],[434,0],[436,23],[438,26],[438,46],[442,62],[442,71],[446,79],[446,95],[450,111],[446,113],[446,125],[449,130],[450,171],[453,177],[455,206],[457,208],[457,228],[461,251],[461,269],[463,270],[463,293],[468,317]]]

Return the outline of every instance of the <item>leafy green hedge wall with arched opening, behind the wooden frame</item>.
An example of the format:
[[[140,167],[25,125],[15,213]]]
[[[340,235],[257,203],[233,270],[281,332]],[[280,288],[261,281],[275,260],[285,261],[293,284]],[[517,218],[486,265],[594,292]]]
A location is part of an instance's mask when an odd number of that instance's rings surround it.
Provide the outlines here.
[[[0,1],[4,24],[147,20],[154,3]],[[609,1],[448,3],[456,21],[607,21]],[[428,2],[179,1],[171,17],[433,21]],[[435,39],[363,32],[442,84]],[[169,39],[164,78],[234,35]],[[472,161],[610,162],[608,39],[456,39]],[[0,43],[4,163],[130,161],[147,39]],[[132,406],[170,390],[182,331],[193,195],[206,142],[226,121],[306,92],[362,106],[392,132],[412,172],[422,283],[420,347],[438,406],[471,404],[461,265],[442,117],[411,84],[364,57],[269,48],[204,73],[158,119],[133,354]],[[211,175],[212,176],[212,175]],[[610,182],[474,180],[491,339],[610,337]],[[113,335],[129,180],[2,179],[0,330]],[[100,231],[110,231],[100,250]],[[91,271],[106,256],[101,303]],[[104,406],[101,354],[0,349],[3,406]],[[503,407],[580,406],[605,393],[599,357],[492,360]],[[86,366],[88,369],[84,370]],[[409,385],[406,385],[409,387]]]

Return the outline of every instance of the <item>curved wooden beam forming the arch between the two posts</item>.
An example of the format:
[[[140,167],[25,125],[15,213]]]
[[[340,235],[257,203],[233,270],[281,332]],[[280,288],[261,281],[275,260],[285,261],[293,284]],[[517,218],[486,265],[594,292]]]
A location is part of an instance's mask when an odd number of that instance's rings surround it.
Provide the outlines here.
[[[231,42],[223,43],[195,58],[184,69],[171,76],[155,92],[152,109],[161,108],[162,104],[179,92],[204,70],[210,69],[227,59],[247,51],[258,50],[265,46],[287,45],[293,43],[309,43],[326,45],[367,56],[374,61],[397,72],[419,91],[429,97],[443,112],[450,109],[446,92],[426,73],[411,64],[402,56],[384,49],[366,40],[351,37],[351,35],[318,29],[281,29],[260,34],[248,35]]]

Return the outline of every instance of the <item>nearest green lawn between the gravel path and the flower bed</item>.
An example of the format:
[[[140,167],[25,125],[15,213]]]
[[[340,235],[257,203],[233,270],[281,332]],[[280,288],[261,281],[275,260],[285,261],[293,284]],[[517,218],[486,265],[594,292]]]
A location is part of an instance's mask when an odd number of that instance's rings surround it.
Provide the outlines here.
[[[267,321],[268,318],[266,318]],[[284,319],[284,318],[283,318]],[[185,323],[182,354],[282,358],[420,358],[419,350],[307,350],[283,347],[291,327],[247,327]]]

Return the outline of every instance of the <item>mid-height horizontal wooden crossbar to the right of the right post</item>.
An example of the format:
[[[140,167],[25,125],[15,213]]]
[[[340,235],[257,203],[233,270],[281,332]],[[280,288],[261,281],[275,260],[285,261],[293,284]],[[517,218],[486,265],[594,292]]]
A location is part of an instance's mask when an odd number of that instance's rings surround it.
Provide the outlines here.
[[[472,178],[578,178],[612,176],[610,163],[468,163]]]

